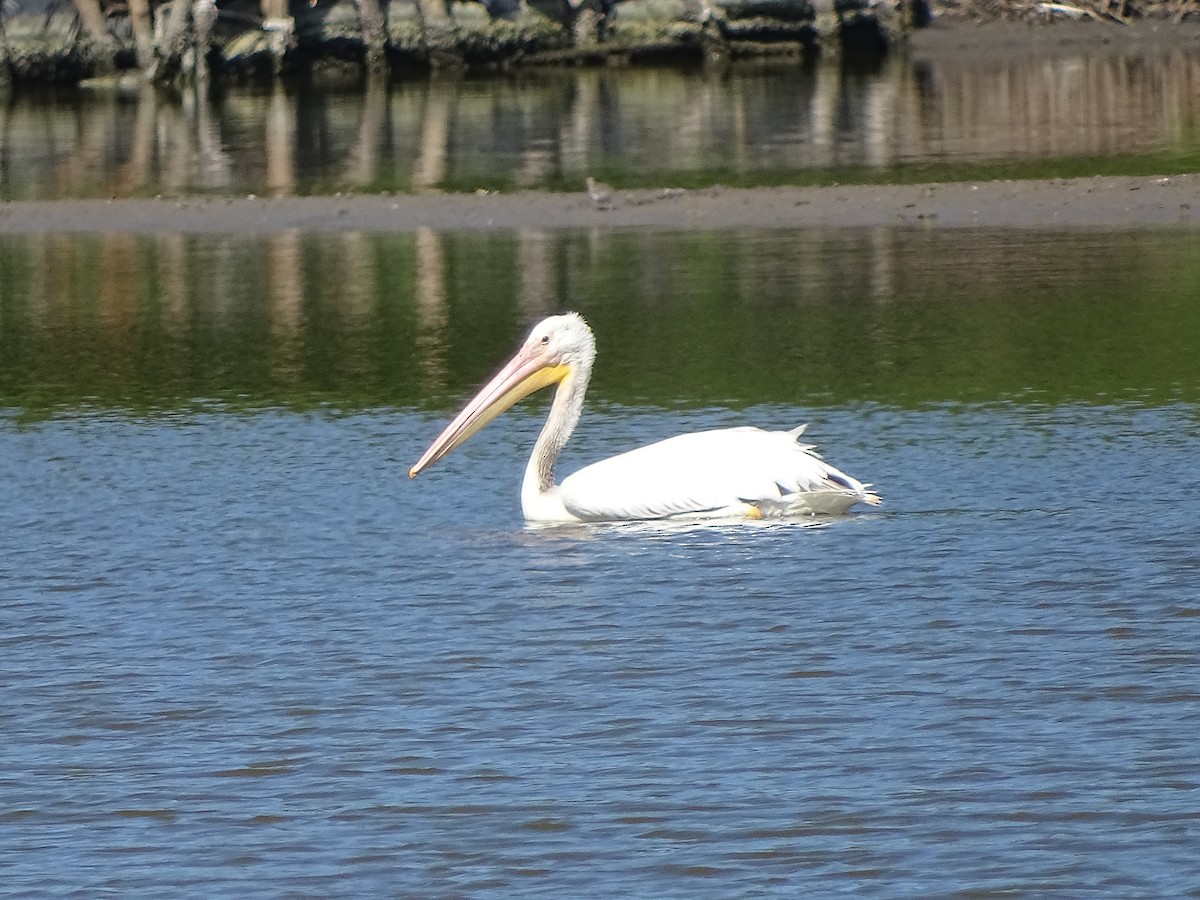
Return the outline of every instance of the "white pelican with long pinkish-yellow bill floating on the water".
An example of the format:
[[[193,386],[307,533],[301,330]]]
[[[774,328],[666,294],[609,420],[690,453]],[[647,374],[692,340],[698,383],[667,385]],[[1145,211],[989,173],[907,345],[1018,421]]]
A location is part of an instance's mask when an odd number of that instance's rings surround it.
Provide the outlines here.
[[[595,355],[592,329],[577,313],[540,322],[408,476],[415,478],[522,397],[557,384],[521,484],[521,508],[529,522],[774,518],[880,503],[869,485],[797,442],[804,426],[680,434],[587,466],[556,485],[554,460],[580,420]]]

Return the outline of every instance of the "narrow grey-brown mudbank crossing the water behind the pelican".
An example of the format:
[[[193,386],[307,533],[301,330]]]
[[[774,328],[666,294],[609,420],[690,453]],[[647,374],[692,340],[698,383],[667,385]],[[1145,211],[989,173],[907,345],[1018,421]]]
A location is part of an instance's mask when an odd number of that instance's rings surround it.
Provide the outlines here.
[[[618,191],[611,209],[559,193],[266,199],[17,200],[0,233],[498,230],[506,228],[1169,227],[1200,224],[1200,175],[935,185]]]

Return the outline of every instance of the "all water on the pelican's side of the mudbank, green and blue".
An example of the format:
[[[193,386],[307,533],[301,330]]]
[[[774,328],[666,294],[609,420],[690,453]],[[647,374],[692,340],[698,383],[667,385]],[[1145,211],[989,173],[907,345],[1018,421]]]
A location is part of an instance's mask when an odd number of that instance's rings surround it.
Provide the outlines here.
[[[0,241],[0,890],[1200,889],[1186,232]],[[101,277],[97,277],[97,272]],[[564,470],[791,427],[821,527],[529,529]]]

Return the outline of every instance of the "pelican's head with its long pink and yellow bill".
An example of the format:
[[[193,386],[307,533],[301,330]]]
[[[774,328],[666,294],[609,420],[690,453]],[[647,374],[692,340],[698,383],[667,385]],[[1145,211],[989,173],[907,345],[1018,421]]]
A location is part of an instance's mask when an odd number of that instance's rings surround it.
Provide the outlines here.
[[[590,372],[595,355],[595,338],[582,316],[569,312],[542,319],[508,365],[479,390],[408,470],[408,476],[416,478],[522,397],[560,384],[581,370]]]

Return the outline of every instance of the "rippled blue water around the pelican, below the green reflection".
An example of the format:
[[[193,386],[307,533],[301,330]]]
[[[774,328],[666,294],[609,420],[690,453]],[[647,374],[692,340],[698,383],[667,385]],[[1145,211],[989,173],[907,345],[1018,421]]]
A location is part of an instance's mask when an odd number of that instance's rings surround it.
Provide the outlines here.
[[[540,410],[0,420],[0,894],[1200,890],[1188,404],[791,427],[821,527],[530,529]]]

